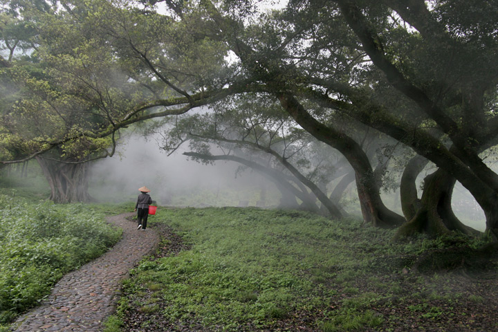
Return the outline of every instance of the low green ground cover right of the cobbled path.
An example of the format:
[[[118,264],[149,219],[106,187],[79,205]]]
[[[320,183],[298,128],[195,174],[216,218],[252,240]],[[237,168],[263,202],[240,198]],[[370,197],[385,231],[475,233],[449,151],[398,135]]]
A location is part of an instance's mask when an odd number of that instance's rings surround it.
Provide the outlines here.
[[[392,241],[360,221],[252,208],[161,209],[157,255],[124,282],[107,331],[493,331],[496,267],[412,270],[486,237]]]

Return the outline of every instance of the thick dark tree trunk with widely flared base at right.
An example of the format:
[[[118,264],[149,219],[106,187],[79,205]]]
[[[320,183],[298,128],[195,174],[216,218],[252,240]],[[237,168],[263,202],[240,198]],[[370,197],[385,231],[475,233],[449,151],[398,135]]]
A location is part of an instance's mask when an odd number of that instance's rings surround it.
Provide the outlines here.
[[[420,208],[408,223],[398,229],[395,238],[409,237],[417,233],[438,237],[452,230],[477,234],[476,230],[463,225],[453,213],[451,197],[455,181],[443,169],[426,176]]]

